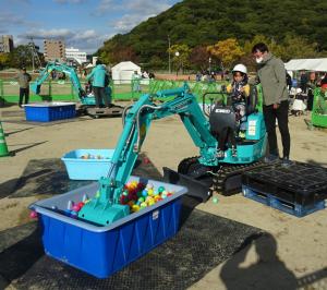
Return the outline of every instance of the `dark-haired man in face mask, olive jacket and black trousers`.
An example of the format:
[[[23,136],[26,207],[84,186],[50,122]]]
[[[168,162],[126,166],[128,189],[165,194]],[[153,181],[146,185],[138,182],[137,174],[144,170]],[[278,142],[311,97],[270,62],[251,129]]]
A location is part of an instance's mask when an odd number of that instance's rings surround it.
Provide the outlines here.
[[[252,53],[258,65],[258,78],[263,86],[264,106],[263,113],[268,134],[269,155],[266,162],[277,161],[279,158],[276,135],[276,119],[282,143],[282,165],[291,165],[290,161],[290,132],[289,132],[289,101],[286,83],[286,69],[280,59],[274,57],[264,43],[256,44]]]

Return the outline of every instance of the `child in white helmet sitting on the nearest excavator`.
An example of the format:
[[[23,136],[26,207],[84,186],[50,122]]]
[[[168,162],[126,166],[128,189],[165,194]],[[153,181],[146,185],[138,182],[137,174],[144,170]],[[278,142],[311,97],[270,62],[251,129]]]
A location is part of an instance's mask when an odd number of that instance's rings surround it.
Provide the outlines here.
[[[250,85],[247,84],[247,69],[244,64],[237,64],[233,70],[232,83],[227,86],[227,93],[231,96],[232,107],[237,114],[237,132],[233,132],[239,137],[245,137],[246,131],[246,98],[250,96]],[[232,145],[232,155],[237,154],[237,142],[234,136],[230,136]],[[222,146],[222,144],[221,144]],[[219,155],[219,152],[218,152]]]

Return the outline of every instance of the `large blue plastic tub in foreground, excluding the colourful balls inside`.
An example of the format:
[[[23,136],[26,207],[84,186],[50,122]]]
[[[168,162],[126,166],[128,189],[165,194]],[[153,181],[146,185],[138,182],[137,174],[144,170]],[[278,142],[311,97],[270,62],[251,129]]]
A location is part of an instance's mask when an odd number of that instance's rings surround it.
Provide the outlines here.
[[[129,181],[133,180],[140,178],[131,177]],[[181,197],[186,189],[154,180],[142,182],[150,182],[155,189],[165,186],[174,194],[107,227],[61,214],[69,201],[80,202],[84,194],[94,196],[98,183],[32,204],[29,208],[38,213],[46,254],[106,278],[173,237],[179,230]]]

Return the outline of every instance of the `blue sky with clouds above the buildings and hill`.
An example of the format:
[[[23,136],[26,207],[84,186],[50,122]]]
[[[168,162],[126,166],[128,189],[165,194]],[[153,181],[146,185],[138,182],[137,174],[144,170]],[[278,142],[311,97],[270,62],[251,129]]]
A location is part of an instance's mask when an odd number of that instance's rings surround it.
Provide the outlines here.
[[[104,40],[177,2],[181,0],[0,0],[0,34],[13,35],[15,46],[32,36],[43,51],[45,38],[58,38],[93,53]]]

